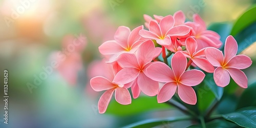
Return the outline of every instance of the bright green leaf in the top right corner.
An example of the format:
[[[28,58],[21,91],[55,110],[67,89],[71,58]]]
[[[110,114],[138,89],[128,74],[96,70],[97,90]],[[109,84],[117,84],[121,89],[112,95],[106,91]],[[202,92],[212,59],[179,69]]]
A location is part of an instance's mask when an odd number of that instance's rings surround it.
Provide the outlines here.
[[[256,22],[256,5],[251,6],[245,13],[243,13],[236,23],[234,23],[233,28],[231,30],[231,35],[235,36],[243,29]]]

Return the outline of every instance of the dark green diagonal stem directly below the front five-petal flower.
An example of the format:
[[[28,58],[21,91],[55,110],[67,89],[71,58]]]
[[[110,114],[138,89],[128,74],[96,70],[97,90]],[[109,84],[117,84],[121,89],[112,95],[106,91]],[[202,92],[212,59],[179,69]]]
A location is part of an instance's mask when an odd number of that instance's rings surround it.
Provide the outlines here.
[[[170,104],[172,106],[175,106],[175,108],[179,109],[184,114],[189,114],[189,115],[191,115],[191,116],[193,116],[195,118],[198,118],[198,116],[194,112],[190,111],[184,105],[182,105],[181,103],[179,103],[179,102],[177,102],[177,101],[175,101],[173,99],[168,100],[166,103],[168,103],[168,104]]]

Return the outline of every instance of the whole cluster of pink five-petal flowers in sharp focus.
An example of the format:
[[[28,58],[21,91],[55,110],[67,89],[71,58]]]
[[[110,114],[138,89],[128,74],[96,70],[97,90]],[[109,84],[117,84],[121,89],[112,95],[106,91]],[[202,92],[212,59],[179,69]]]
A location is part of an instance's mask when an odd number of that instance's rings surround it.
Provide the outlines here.
[[[115,92],[120,104],[132,102],[143,92],[156,96],[159,103],[166,102],[178,93],[187,104],[196,104],[193,86],[200,84],[205,72],[214,73],[219,87],[225,87],[232,79],[242,88],[247,88],[247,77],[241,69],[248,68],[252,61],[248,56],[236,55],[238,45],[228,36],[223,53],[220,35],[206,30],[198,14],[193,22],[185,22],[182,11],[165,17],[144,15],[145,30],[121,26],[114,40],[103,42],[99,52],[106,59],[107,76],[96,76],[90,81],[95,91],[106,90],[99,99],[99,113],[104,113]],[[168,64],[168,57],[170,66]],[[198,67],[201,70],[195,69]],[[163,86],[159,86],[163,83]]]

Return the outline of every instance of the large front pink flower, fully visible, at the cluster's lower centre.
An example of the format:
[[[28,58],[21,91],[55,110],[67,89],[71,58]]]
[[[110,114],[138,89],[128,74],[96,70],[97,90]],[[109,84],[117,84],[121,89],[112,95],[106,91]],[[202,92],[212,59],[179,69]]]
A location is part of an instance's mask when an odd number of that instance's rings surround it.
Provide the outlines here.
[[[182,101],[188,104],[196,104],[197,96],[191,86],[201,83],[205,74],[199,70],[185,71],[187,59],[181,52],[176,52],[172,58],[170,69],[163,62],[153,62],[147,67],[147,76],[159,82],[166,82],[157,95],[158,103],[166,102],[176,92]]]

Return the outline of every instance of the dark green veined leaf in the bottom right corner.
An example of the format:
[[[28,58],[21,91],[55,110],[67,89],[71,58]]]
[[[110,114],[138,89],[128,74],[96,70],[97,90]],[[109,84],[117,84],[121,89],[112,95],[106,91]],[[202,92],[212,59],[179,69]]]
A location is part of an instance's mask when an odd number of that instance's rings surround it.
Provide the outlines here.
[[[243,127],[256,127],[256,107],[243,108],[222,117]]]

